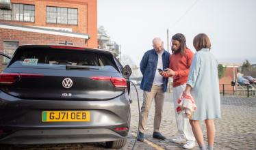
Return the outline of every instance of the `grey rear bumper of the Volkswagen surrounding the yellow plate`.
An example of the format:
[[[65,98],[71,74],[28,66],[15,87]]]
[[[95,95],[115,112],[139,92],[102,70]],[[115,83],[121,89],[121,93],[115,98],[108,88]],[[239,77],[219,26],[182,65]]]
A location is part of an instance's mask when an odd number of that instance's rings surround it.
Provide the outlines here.
[[[88,110],[88,122],[42,122],[45,110]],[[0,143],[103,142],[125,138],[130,125],[126,94],[105,101],[22,100],[0,91]],[[128,130],[117,131],[116,127]]]

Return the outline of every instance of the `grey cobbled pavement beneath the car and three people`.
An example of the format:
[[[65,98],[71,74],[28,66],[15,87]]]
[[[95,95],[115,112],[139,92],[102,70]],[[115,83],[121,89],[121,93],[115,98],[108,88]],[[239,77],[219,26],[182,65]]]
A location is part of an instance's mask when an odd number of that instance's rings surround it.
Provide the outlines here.
[[[127,145],[123,149],[131,149],[134,142],[134,135],[138,127],[138,104],[136,102],[136,93],[132,89],[131,99],[131,129],[127,137]],[[140,104],[142,104],[142,91],[139,90]],[[162,117],[161,132],[167,140],[153,139],[153,115],[154,104],[149,114],[149,120],[146,126],[146,142],[137,142],[136,149],[182,149],[181,144],[170,142],[170,138],[177,133],[175,124],[174,107],[172,104],[172,93],[166,93],[164,104],[164,115]],[[216,140],[214,149],[256,149],[256,97],[233,97],[225,96],[221,98],[222,119],[217,119]],[[203,125],[205,133],[205,126]],[[204,135],[205,136],[205,135]],[[205,145],[206,136],[205,136]],[[86,144],[62,144],[62,145],[15,145],[2,147],[1,149],[104,149],[104,143],[86,143]],[[194,149],[199,149],[195,147]]]

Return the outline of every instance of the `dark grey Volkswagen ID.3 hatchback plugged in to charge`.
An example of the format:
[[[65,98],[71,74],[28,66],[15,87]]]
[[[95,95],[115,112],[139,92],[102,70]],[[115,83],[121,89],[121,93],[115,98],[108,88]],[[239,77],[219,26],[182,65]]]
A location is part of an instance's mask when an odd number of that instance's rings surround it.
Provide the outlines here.
[[[131,120],[130,74],[129,65],[105,50],[19,46],[0,74],[0,146],[123,147]]]

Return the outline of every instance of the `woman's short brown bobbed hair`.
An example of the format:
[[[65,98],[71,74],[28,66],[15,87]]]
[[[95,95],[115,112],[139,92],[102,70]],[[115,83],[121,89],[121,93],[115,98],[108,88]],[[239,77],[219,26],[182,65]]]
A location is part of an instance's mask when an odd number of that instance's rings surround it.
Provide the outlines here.
[[[209,48],[211,50],[211,42],[209,41],[209,37],[205,33],[200,33],[194,37],[193,40],[194,48],[196,51],[201,50],[202,48]]]

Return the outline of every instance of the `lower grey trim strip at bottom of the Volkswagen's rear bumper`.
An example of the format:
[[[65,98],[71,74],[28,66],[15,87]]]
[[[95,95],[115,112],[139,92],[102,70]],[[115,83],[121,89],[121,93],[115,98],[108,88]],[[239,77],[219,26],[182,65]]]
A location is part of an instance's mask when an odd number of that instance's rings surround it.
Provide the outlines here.
[[[125,138],[109,129],[18,130],[0,140],[0,144],[57,144],[105,142]]]

